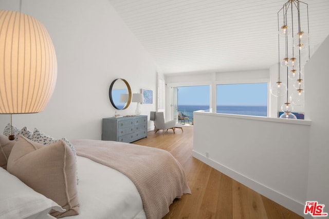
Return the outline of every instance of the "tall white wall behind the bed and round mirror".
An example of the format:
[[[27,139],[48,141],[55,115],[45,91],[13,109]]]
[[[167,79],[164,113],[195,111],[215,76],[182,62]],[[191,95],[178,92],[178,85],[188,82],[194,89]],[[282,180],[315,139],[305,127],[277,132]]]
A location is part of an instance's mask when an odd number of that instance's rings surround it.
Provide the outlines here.
[[[1,0],[0,9],[19,11],[19,1]],[[57,53],[58,78],[45,110],[13,115],[14,126],[38,127],[57,138],[97,140],[102,118],[116,111],[108,98],[115,78],[126,79],[133,93],[141,88],[156,91],[155,62],[107,0],[28,0],[22,12],[47,28]],[[153,105],[141,105],[142,114],[155,110],[153,98]],[[127,115],[135,109],[132,103],[117,111]],[[0,129],[9,121],[9,115],[0,115]]]

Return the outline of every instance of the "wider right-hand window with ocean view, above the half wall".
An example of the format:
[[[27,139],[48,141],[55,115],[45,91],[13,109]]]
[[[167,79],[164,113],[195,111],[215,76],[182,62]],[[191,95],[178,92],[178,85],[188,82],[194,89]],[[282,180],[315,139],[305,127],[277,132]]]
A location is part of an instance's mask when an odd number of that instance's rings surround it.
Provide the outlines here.
[[[217,85],[217,113],[267,116],[267,83]]]

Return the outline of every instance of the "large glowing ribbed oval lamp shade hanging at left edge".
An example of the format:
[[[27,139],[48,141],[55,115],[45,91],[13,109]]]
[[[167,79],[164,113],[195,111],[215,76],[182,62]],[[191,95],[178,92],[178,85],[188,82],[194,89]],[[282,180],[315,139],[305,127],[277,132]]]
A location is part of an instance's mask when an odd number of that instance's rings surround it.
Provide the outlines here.
[[[42,111],[57,78],[46,28],[35,18],[0,10],[0,113]]]

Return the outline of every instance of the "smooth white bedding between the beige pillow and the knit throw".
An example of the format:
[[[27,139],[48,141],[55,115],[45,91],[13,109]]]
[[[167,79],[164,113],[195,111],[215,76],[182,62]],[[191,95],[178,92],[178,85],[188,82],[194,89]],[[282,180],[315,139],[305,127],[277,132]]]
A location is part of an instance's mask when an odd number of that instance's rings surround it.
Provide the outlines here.
[[[128,177],[82,156],[77,156],[77,165],[79,215],[67,218],[146,218],[141,197]]]

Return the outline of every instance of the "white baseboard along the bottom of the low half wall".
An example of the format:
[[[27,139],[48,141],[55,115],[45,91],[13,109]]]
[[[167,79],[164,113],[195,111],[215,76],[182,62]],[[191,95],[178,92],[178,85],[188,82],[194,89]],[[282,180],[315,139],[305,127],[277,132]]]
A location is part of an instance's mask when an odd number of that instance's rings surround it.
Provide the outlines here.
[[[260,184],[259,182],[256,182],[252,180],[251,178],[240,174],[214,160],[211,158],[207,158],[203,154],[200,154],[196,151],[193,150],[192,152],[193,157],[197,158],[198,160],[202,161],[203,163],[211,166],[212,168],[224,173],[225,175],[233,178],[233,180],[249,187],[250,189],[264,195],[265,197],[268,197],[270,200],[284,206],[285,208],[301,215],[302,217],[305,218],[312,218],[312,217],[307,217],[307,215],[304,214],[304,206],[305,203],[299,203],[296,200],[293,200],[290,197],[287,197],[286,195],[275,191],[263,184]]]

